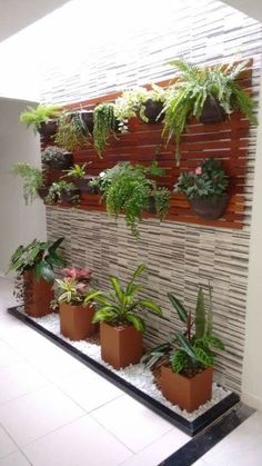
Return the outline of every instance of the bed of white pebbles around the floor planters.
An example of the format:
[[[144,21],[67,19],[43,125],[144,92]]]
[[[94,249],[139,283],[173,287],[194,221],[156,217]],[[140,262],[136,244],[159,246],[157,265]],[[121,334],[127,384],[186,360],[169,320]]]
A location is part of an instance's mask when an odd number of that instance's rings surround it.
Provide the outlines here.
[[[19,310],[23,311],[23,308],[19,308]],[[174,413],[179,414],[180,416],[184,417],[187,420],[192,422],[201,416],[203,413],[208,412],[223,398],[231,394],[231,391],[225,390],[223,387],[219,386],[218,384],[213,383],[212,387],[212,399],[204,405],[200,406],[193,413],[188,413],[184,409],[181,409],[177,405],[172,405],[168,401],[162,393],[159,390],[157,385],[154,384],[154,378],[150,369],[147,369],[143,364],[135,364],[125,367],[124,369],[117,370],[108,363],[104,363],[100,356],[100,346],[93,343],[89,343],[85,340],[81,341],[71,341],[69,338],[63,337],[60,334],[60,321],[58,314],[49,314],[48,316],[41,318],[32,318],[36,323],[40,326],[46,328],[47,330],[51,331],[52,334],[57,335],[64,341],[72,345],[74,348],[79,349],[84,355],[89,356],[90,358],[94,359],[95,361],[100,363],[108,369],[112,370],[112,373],[117,374],[118,376],[122,377],[124,380],[129,381],[140,390],[144,391],[147,395],[151,396],[153,399],[157,399],[162,405],[167,406],[168,408],[172,409]]]

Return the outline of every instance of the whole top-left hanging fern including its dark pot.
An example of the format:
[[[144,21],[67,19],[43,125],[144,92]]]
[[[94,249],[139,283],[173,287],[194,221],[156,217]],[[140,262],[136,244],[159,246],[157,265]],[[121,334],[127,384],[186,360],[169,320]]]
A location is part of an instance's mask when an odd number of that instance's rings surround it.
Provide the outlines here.
[[[32,126],[34,132],[51,138],[57,131],[57,118],[62,109],[58,106],[47,106],[39,103],[38,107],[28,107],[20,115],[20,121],[28,127]]]

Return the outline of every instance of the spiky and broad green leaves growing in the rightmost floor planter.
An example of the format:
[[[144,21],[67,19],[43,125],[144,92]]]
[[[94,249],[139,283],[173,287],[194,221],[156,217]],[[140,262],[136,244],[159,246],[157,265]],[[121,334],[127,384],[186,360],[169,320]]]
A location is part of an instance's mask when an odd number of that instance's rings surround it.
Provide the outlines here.
[[[182,303],[172,294],[168,297],[177,310],[179,319],[185,326],[184,331],[170,334],[169,341],[157,346],[142,357],[148,367],[170,364],[172,370],[187,377],[193,377],[209,366],[213,366],[214,349],[222,350],[224,345],[213,336],[212,328],[212,293],[209,286],[209,304],[205,307],[204,293],[199,287],[195,316],[187,311]],[[193,330],[194,328],[194,330]]]

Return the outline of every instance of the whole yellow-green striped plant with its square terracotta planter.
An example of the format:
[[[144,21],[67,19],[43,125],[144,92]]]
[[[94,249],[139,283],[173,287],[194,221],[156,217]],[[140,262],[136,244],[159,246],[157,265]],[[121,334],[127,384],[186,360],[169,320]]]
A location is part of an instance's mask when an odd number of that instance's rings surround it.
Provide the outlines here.
[[[124,287],[119,278],[110,277],[111,291],[93,291],[85,303],[97,306],[93,323],[100,323],[101,357],[115,369],[139,363],[142,356],[142,333],[145,324],[140,311],[161,316],[161,308],[153,300],[139,298],[142,286],[135,280],[145,270],[141,265]]]

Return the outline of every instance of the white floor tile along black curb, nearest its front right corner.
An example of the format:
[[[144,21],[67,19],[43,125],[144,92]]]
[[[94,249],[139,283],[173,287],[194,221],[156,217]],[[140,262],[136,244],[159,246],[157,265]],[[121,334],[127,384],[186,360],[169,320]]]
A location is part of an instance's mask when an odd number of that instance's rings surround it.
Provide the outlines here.
[[[127,395],[92,412],[91,416],[133,452],[141,450],[173,428]]]

